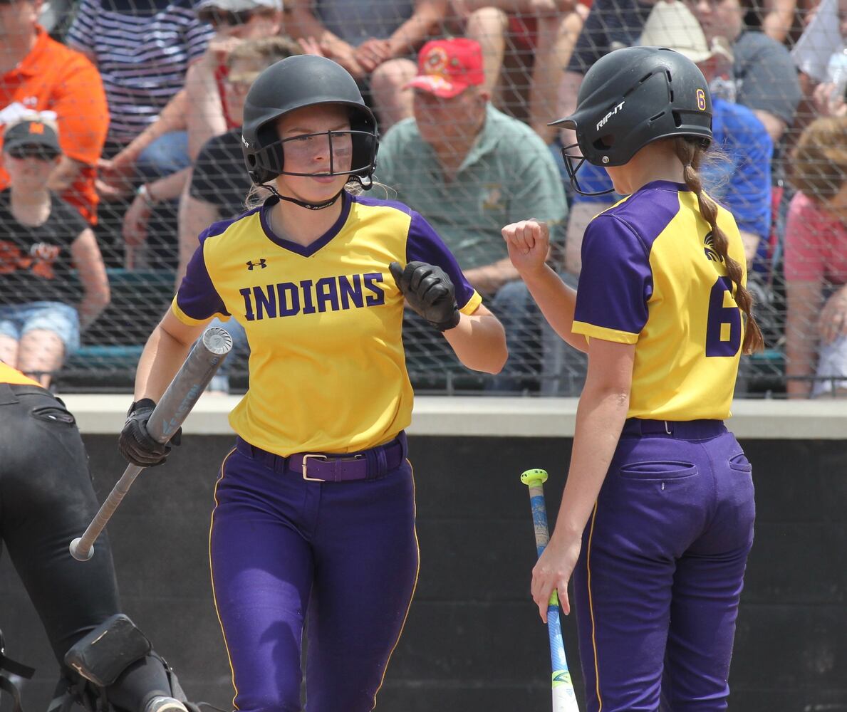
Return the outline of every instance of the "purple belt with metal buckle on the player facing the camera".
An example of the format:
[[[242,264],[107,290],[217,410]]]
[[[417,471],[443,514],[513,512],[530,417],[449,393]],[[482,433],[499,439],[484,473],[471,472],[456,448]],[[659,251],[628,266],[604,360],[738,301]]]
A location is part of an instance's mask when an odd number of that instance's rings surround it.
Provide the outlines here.
[[[297,452],[283,457],[257,448],[245,439],[236,438],[235,448],[274,472],[296,472],[312,482],[354,482],[385,477],[406,460],[408,446],[405,431],[390,442],[359,452]]]

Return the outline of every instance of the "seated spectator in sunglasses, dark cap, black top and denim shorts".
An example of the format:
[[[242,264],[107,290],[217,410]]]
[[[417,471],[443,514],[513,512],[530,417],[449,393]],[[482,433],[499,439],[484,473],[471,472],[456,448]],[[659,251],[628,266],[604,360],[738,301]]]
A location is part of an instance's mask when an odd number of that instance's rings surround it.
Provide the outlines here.
[[[94,233],[47,189],[61,155],[54,124],[40,116],[3,134],[9,185],[0,191],[0,360],[44,387],[109,301]]]

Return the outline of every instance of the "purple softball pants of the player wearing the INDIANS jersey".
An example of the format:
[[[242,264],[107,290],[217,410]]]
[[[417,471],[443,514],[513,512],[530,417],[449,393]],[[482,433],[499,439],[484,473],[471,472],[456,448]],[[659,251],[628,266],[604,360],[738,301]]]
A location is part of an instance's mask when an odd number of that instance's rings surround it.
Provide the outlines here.
[[[240,450],[215,488],[209,556],[235,709],[368,712],[418,577],[412,466],[308,482]]]

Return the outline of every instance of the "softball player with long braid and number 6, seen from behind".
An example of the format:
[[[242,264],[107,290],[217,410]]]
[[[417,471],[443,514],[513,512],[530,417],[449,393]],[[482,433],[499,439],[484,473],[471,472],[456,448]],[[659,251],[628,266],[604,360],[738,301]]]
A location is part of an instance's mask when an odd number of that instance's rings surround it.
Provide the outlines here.
[[[750,463],[723,424],[739,356],[761,346],[734,218],[697,169],[711,141],[706,80],[677,52],[595,63],[563,150],[628,196],[585,230],[579,288],[545,267],[548,235],[503,229],[545,317],[588,353],[573,455],[550,545],[533,569],[579,627],[590,712],[727,709],[755,505]],[[579,146],[581,156],[570,150]]]

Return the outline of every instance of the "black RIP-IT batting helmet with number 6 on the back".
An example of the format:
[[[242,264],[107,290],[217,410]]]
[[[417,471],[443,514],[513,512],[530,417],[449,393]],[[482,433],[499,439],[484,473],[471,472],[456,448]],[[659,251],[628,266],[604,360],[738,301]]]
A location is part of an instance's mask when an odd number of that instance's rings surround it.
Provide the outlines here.
[[[689,58],[665,47],[609,52],[586,72],[577,108],[551,126],[573,129],[581,158],[622,166],[651,141],[695,136],[711,143],[711,97],[706,77]],[[565,164],[571,174],[571,160]],[[573,171],[573,173],[572,173]]]

